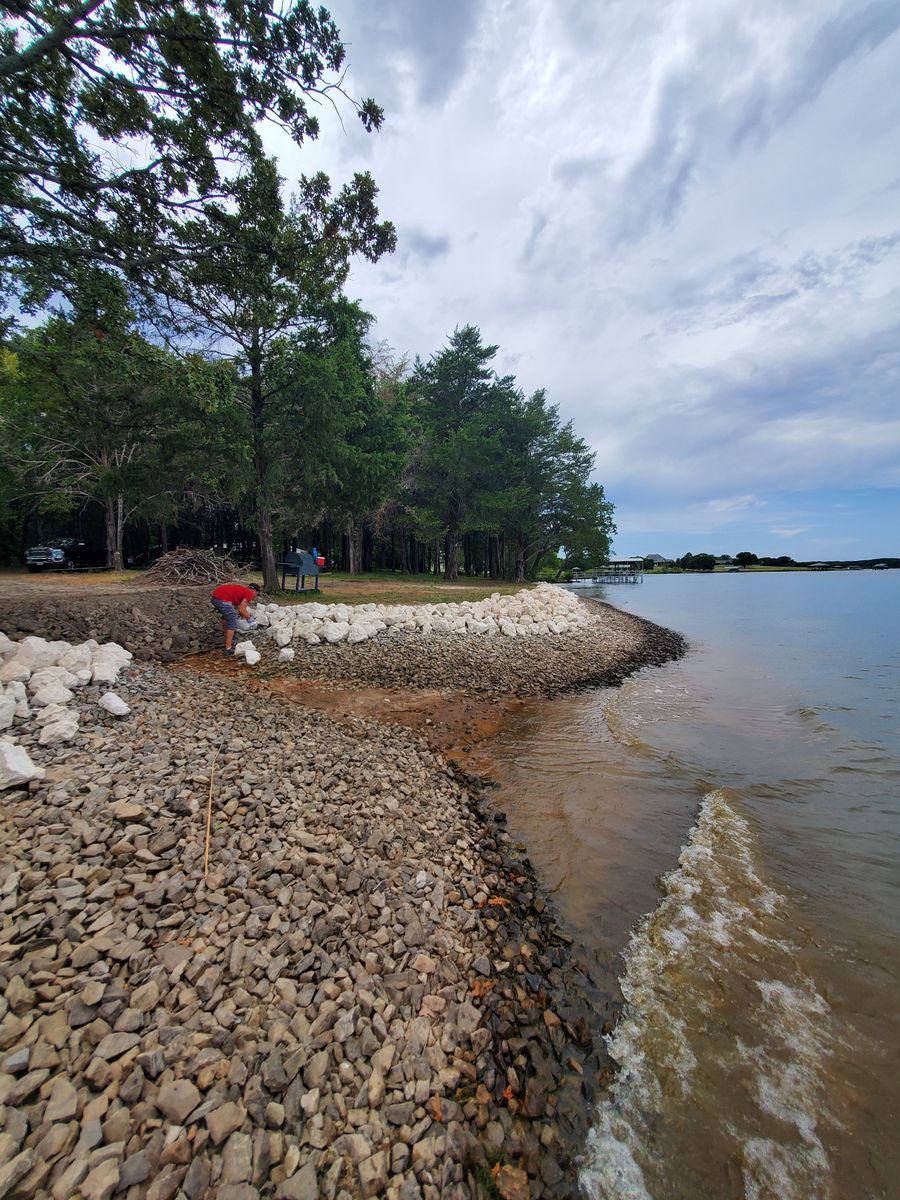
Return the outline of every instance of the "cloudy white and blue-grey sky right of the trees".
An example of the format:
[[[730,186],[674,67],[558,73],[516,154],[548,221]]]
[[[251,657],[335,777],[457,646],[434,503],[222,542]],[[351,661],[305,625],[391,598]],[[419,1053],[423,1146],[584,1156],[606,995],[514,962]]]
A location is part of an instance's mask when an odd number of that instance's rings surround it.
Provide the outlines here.
[[[622,554],[900,556],[898,0],[334,0],[397,226],[348,292],[457,325],[596,451]]]

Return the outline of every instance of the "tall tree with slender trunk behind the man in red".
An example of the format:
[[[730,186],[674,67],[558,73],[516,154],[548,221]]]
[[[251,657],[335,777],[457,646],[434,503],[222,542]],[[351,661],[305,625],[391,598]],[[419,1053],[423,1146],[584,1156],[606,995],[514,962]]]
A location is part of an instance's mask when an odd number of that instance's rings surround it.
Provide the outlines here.
[[[277,518],[304,487],[312,504],[312,485],[328,481],[341,404],[353,401],[336,383],[338,343],[358,341],[353,326],[362,319],[340,300],[350,257],[376,262],[396,242],[391,223],[378,221],[376,196],[368,174],[334,196],[318,174],[300,180],[286,208],[275,163],[259,160],[236,185],[234,210],[210,205],[191,227],[194,241],[220,252],[168,274],[173,328],[229,362],[238,378],[230,420],[246,454],[235,474],[253,512],[269,589],[277,587]]]

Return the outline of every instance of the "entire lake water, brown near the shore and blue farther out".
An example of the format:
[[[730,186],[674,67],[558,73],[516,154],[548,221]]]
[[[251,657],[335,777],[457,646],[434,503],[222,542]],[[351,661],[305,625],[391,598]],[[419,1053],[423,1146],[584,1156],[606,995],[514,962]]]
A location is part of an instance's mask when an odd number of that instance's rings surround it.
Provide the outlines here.
[[[625,997],[586,1195],[898,1195],[900,571],[578,592],[691,643],[497,745],[510,830]]]

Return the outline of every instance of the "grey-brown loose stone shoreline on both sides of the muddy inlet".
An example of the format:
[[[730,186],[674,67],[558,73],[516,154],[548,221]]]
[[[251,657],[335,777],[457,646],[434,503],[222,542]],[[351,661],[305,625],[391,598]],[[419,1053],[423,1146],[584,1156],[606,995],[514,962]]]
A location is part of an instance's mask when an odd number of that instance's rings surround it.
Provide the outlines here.
[[[602,636],[395,635],[289,667],[533,695],[683,648],[602,616]],[[527,860],[416,734],[254,674],[132,667],[125,720],[90,685],[72,742],[19,737],[47,774],[4,793],[0,1190],[576,1195],[596,1000]]]

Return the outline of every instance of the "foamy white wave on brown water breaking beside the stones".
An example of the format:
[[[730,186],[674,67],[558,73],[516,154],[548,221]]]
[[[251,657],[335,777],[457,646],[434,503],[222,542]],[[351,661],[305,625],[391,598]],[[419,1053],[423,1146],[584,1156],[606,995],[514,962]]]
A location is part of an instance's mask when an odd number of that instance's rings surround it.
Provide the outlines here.
[[[709,1146],[740,1164],[748,1200],[828,1194],[818,1124],[835,1022],[722,792],[704,797],[662,887],[624,955],[625,1007],[608,1038],[620,1072],[598,1106],[582,1187],[596,1200],[662,1198],[679,1156],[702,1171]]]

